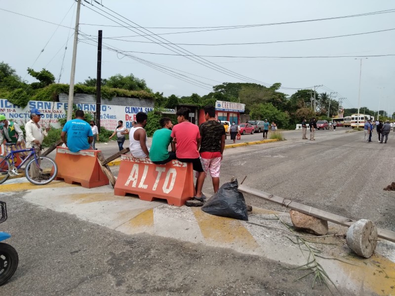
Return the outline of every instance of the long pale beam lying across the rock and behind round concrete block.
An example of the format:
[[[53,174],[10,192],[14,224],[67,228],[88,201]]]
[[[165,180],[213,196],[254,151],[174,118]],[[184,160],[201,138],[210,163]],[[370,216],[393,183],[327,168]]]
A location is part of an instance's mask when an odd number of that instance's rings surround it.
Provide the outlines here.
[[[261,191],[261,190],[257,190],[251,187],[248,187],[246,185],[238,185],[238,191],[243,192],[243,193],[248,193],[248,194],[252,194],[258,197],[261,197],[265,200],[269,200],[272,202],[275,202],[277,204],[282,205],[283,207],[289,208],[291,210],[295,210],[319,219],[323,219],[329,222],[333,222],[336,224],[340,224],[343,226],[351,226],[352,224],[354,224],[356,221],[346,218],[346,217],[342,217],[336,214],[332,214],[329,212],[325,212],[313,207],[309,207],[306,205],[303,205],[301,203],[292,201],[290,199],[285,199],[273,194],[269,194],[267,192]],[[378,236],[380,238],[384,238],[386,240],[389,240],[391,242],[395,243],[395,232],[388,230],[388,229],[383,229],[383,228],[377,228],[377,232],[378,232]]]

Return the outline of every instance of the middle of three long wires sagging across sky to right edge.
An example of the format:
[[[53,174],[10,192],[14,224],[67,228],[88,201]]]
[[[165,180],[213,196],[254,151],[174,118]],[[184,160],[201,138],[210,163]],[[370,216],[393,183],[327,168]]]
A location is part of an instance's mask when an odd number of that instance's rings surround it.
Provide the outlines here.
[[[284,42],[300,42],[300,41],[312,41],[312,40],[321,40],[321,39],[331,39],[331,38],[339,38],[339,37],[350,37],[350,36],[359,36],[359,35],[366,35],[366,34],[374,34],[380,32],[387,32],[393,31],[394,29],[385,29],[379,31],[371,31],[371,32],[364,32],[364,33],[355,33],[355,34],[347,34],[347,35],[338,35],[338,36],[329,36],[329,37],[317,37],[317,38],[306,38],[306,39],[295,39],[295,40],[278,40],[278,41],[266,41],[266,42],[243,42],[243,43],[166,43],[166,42],[159,42],[160,44],[175,44],[175,45],[188,45],[188,46],[223,46],[223,45],[254,45],[254,44],[271,44],[271,43],[284,43]],[[125,41],[125,42],[134,42],[134,43],[157,43],[151,41],[138,41],[138,40],[126,40],[126,39],[119,39],[118,37],[103,37],[104,39],[112,39],[118,41]]]

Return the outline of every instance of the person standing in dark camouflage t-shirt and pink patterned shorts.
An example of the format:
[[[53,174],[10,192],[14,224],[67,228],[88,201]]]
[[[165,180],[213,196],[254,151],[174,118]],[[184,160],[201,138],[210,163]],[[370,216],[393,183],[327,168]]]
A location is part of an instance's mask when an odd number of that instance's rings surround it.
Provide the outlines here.
[[[199,153],[205,167],[205,176],[207,176],[207,171],[210,172],[215,193],[219,189],[221,160],[225,148],[225,129],[215,119],[213,106],[204,107],[204,119],[206,121],[199,126],[201,138]]]

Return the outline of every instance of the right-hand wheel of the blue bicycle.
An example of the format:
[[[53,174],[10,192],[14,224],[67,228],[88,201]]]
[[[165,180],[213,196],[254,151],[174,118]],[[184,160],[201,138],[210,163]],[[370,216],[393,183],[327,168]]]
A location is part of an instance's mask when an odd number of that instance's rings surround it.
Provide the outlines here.
[[[55,179],[58,173],[58,166],[52,158],[46,156],[37,156],[37,160],[39,161],[39,166],[35,158],[26,165],[26,179],[35,185],[48,184]]]

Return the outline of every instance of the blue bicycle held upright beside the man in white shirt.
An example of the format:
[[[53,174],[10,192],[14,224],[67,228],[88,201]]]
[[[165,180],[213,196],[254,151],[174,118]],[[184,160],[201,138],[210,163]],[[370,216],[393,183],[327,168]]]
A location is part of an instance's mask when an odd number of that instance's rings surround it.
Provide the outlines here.
[[[6,146],[15,144],[6,143]],[[40,148],[41,149],[41,148]],[[30,152],[21,164],[15,166],[15,154]],[[33,159],[31,159],[34,157]],[[29,161],[29,162],[28,162]],[[58,173],[56,162],[47,156],[38,156],[36,148],[11,150],[7,155],[0,155],[0,184],[3,184],[10,176],[18,176],[18,170],[27,162],[25,176],[34,185],[45,185],[55,179]]]

